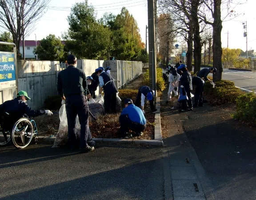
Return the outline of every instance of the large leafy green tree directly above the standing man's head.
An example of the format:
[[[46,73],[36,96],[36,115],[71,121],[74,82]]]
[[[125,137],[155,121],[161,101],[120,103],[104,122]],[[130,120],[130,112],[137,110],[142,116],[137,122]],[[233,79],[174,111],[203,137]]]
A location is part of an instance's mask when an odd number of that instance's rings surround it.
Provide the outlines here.
[[[63,35],[66,46],[78,58],[107,58],[111,48],[111,31],[98,23],[93,6],[88,0],[76,3],[68,16],[68,32]]]

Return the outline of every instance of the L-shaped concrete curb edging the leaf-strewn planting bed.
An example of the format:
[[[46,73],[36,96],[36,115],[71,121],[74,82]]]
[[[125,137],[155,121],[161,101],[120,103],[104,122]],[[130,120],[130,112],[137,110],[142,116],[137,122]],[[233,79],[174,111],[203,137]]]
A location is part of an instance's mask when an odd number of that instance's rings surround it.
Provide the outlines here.
[[[96,142],[104,143],[122,143],[122,144],[146,144],[152,146],[163,146],[163,138],[160,121],[160,97],[156,97],[156,109],[159,112],[155,113],[155,139],[119,139],[119,138],[93,138]],[[56,137],[39,136],[38,142],[53,144]]]

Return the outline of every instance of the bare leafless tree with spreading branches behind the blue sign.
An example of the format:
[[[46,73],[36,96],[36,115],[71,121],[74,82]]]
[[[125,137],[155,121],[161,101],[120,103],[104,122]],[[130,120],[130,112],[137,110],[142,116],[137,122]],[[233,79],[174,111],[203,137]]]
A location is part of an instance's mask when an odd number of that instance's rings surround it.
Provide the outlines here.
[[[22,35],[34,30],[35,22],[45,13],[50,0],[0,0],[0,27],[12,34],[17,53]],[[22,25],[23,23],[23,25]]]

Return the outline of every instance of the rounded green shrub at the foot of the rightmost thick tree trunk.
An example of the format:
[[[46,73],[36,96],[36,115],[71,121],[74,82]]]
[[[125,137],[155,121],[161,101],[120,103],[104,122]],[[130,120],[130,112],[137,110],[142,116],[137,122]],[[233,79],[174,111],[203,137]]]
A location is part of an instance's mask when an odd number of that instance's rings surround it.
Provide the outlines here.
[[[235,103],[236,98],[243,93],[244,92],[239,88],[235,87],[235,84],[232,81],[217,81],[215,83],[215,88],[212,88],[209,81],[206,81],[204,85],[204,94],[211,97],[211,99],[218,101],[218,104]]]

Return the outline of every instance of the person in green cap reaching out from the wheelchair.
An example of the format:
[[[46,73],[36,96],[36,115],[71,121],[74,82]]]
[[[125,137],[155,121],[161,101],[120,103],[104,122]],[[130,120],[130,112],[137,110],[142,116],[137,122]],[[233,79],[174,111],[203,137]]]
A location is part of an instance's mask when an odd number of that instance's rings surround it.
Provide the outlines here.
[[[39,115],[52,115],[52,112],[49,110],[32,110],[26,103],[27,100],[30,100],[27,92],[20,91],[17,93],[17,97],[13,100],[5,101],[3,104],[0,104],[0,124],[3,126],[1,121],[3,118],[8,118],[8,123],[5,123],[5,130],[12,128],[12,125],[20,118],[31,118]],[[6,121],[6,120],[5,120]],[[9,130],[6,130],[9,131]]]

